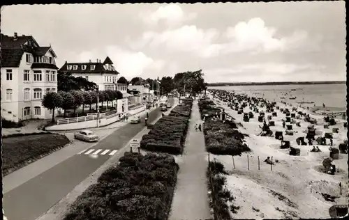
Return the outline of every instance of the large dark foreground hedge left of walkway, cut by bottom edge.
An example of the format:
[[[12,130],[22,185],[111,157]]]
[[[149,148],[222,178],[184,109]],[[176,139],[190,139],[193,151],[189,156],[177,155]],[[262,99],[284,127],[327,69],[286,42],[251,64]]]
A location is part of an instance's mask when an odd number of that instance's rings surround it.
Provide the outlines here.
[[[126,152],[77,198],[64,220],[168,219],[178,168],[170,155]]]

